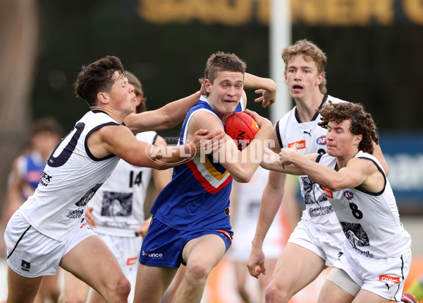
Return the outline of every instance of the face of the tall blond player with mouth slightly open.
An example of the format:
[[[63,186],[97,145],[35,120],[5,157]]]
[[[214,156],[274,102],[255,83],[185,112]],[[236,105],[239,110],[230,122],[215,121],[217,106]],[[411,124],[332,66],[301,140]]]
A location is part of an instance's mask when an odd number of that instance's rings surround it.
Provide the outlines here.
[[[314,61],[307,61],[302,55],[294,56],[288,61],[285,81],[289,93],[294,99],[311,96],[315,90],[319,90],[322,79],[323,73],[317,72]]]

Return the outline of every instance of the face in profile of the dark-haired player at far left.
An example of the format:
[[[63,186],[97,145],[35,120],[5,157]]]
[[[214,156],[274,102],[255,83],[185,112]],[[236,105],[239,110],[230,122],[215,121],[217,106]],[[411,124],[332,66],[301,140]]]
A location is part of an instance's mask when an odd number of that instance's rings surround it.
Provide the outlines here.
[[[111,106],[128,115],[135,111],[137,97],[134,93],[134,87],[130,85],[128,78],[122,76],[118,71],[115,71],[115,76],[117,80],[107,95],[112,103]]]

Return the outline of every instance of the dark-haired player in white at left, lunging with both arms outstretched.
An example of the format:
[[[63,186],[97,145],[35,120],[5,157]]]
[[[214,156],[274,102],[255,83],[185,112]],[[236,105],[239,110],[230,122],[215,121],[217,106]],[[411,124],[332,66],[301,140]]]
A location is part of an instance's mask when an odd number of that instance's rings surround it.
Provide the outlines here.
[[[222,131],[202,129],[192,143],[165,148],[165,155],[157,153],[154,145],[138,141],[133,133],[165,129],[182,121],[200,93],[132,114],[134,88],[121,60],[114,56],[82,66],[75,92],[90,111],[51,153],[35,194],[6,227],[7,302],[32,302],[42,277],[55,275],[59,265],[97,290],[106,302],[125,302],[130,283],[111,250],[88,226],[87,203],[120,158],[131,165],[167,169],[199,153],[202,140],[223,138]]]

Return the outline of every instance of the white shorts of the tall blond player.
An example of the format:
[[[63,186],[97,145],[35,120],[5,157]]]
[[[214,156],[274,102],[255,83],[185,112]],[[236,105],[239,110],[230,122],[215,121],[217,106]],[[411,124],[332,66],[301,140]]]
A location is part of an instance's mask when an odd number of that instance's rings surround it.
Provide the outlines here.
[[[288,242],[313,251],[314,254],[324,259],[326,266],[331,267],[338,259],[344,237],[342,230],[323,232],[307,220],[300,220]]]

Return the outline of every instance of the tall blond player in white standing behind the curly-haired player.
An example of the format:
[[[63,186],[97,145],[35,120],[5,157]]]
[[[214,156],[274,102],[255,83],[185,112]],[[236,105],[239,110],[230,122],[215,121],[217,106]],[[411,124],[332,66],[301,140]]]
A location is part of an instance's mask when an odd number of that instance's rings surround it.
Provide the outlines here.
[[[276,123],[271,133],[274,152],[298,145],[298,153],[326,153],[326,130],[317,123],[316,112],[326,102],[344,102],[326,94],[326,54],[316,44],[299,40],[282,52],[285,62],[285,81],[295,107]],[[374,143],[373,155],[388,173],[379,145]],[[247,266],[258,277],[266,273],[262,244],[274,220],[283,196],[286,174],[270,172],[264,189],[259,221]],[[343,242],[341,225],[333,213],[321,187],[310,177],[298,176],[306,209],[291,234],[278,260],[271,283],[266,290],[266,302],[288,302],[298,291],[317,278],[326,266],[333,266]],[[289,274],[287,274],[289,273]]]

